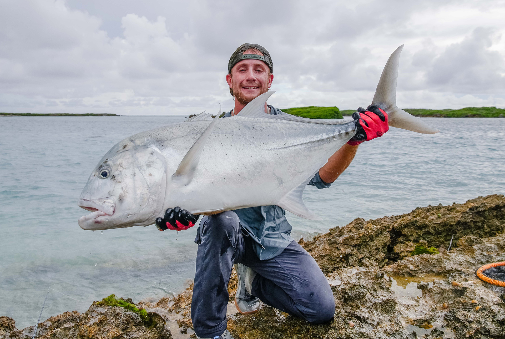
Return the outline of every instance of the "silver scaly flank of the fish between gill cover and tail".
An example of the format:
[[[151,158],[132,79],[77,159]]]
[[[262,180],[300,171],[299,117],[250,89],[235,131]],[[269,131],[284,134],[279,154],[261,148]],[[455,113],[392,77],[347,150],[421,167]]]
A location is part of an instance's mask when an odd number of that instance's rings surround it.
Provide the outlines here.
[[[147,132],[151,140],[161,137],[156,144],[166,158],[167,178],[208,125],[182,122]],[[310,179],[354,133],[354,121],[325,125],[240,116],[219,119],[193,180],[184,187],[168,180],[164,208],[201,212],[275,205]],[[169,138],[163,137],[167,134]]]

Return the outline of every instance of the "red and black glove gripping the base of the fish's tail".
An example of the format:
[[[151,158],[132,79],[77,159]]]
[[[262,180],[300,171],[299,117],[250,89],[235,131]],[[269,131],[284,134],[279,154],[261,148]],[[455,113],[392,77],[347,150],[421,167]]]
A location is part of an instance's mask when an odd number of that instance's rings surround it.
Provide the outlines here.
[[[389,130],[387,113],[378,106],[370,105],[366,110],[360,107],[358,112],[352,113],[352,119],[356,122],[356,134],[347,141],[351,146],[378,138]]]

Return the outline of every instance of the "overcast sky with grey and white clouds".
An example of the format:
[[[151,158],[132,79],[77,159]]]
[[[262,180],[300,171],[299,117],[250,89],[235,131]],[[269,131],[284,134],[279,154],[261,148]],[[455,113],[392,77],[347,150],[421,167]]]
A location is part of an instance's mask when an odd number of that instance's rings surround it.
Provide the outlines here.
[[[505,1],[0,0],[0,112],[182,115],[233,106],[244,42],[277,108],[370,104],[405,44],[401,108],[505,107]]]

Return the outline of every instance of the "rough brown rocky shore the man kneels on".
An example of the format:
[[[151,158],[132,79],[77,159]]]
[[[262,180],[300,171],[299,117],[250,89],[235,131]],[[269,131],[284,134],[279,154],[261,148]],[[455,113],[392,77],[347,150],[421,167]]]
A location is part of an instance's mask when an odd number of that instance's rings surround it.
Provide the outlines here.
[[[240,315],[232,303],[237,283],[232,272],[228,329],[235,338],[505,339],[505,288],[475,276],[478,267],[505,261],[502,195],[375,220],[358,218],[299,243],[328,277],[334,319],[311,325],[265,305],[257,314]],[[429,252],[435,254],[412,255],[416,246],[433,248]],[[145,309],[148,320],[123,307],[93,303],[82,314],[65,312],[41,322],[36,337],[195,337],[191,294],[189,285],[176,297],[132,305]],[[33,331],[34,326],[17,329],[13,319],[0,317],[0,339],[31,338]]]

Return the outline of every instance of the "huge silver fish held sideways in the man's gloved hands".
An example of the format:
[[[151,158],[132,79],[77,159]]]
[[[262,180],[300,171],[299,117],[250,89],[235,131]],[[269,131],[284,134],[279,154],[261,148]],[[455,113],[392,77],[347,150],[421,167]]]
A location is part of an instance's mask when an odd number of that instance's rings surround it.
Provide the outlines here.
[[[388,113],[390,126],[436,133],[396,107],[402,47],[388,59],[372,104]],[[200,114],[118,142],[82,190],[78,205],[92,213],[79,218],[79,226],[147,226],[175,206],[211,214],[278,205],[321,220],[307,209],[302,193],[328,158],[354,136],[356,123],[265,114],[273,93],[258,96],[233,117]]]

